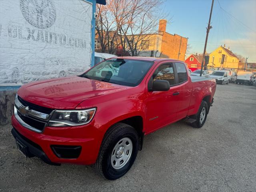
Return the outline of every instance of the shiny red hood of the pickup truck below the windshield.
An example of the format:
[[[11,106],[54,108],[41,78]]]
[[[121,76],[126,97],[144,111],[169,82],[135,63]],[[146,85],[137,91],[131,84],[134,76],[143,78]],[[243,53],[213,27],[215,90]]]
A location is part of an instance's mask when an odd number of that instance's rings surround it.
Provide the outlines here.
[[[129,88],[132,87],[72,76],[28,83],[18,90],[18,95],[27,102],[39,106],[74,109],[91,97]]]

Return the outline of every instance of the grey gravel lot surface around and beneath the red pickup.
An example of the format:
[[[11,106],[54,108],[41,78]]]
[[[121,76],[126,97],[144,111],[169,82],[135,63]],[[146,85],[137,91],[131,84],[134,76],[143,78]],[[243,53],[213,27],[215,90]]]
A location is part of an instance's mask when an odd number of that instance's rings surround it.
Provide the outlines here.
[[[0,127],[0,191],[256,191],[256,87],[217,85],[205,125],[177,122],[144,139],[131,170],[108,181],[91,166],[50,166]]]

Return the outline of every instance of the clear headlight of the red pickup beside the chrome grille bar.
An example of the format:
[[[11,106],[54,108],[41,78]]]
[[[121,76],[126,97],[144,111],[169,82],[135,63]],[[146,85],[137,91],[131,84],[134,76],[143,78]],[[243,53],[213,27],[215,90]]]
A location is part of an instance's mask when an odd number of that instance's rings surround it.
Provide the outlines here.
[[[53,112],[48,126],[63,127],[63,126],[78,126],[89,123],[96,108],[86,110],[56,110]]]

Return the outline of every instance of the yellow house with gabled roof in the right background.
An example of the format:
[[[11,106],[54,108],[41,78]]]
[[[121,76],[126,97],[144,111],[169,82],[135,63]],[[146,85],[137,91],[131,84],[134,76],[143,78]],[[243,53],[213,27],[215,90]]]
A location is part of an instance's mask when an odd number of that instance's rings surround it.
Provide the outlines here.
[[[208,70],[238,69],[238,64],[237,56],[224,45],[210,53],[207,68]]]

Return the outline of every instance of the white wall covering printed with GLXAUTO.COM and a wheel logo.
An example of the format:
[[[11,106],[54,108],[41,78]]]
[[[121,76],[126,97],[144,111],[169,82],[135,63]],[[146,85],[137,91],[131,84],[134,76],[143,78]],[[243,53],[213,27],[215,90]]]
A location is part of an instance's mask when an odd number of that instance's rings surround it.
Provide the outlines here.
[[[0,86],[90,68],[91,20],[84,0],[0,0]]]

